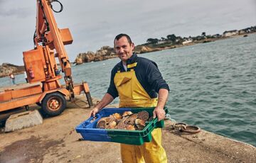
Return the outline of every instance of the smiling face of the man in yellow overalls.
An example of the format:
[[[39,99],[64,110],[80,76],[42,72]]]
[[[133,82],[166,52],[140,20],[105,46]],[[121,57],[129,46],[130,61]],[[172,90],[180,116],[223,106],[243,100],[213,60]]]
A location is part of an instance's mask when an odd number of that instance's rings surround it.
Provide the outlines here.
[[[114,50],[117,56],[126,63],[127,60],[132,56],[132,51],[134,50],[134,43],[129,44],[126,37],[119,38],[119,40],[114,40]]]

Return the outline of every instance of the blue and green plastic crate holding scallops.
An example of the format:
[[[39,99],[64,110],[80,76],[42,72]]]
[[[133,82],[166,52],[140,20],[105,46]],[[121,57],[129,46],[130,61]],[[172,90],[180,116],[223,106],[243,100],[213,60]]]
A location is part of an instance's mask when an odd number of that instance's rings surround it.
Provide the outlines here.
[[[132,111],[138,113],[147,111],[149,116],[153,116],[154,108],[104,108],[96,114],[96,120],[93,117],[88,118],[80,123],[75,130],[82,135],[83,140],[98,142],[119,142],[129,145],[142,145],[144,142],[151,142],[151,131],[154,128],[163,128],[164,120],[157,122],[157,118],[146,122],[143,130],[119,130],[119,129],[100,129],[96,128],[97,121],[100,118],[107,117],[113,113],[124,113],[124,111]],[[165,108],[167,112],[167,109]]]

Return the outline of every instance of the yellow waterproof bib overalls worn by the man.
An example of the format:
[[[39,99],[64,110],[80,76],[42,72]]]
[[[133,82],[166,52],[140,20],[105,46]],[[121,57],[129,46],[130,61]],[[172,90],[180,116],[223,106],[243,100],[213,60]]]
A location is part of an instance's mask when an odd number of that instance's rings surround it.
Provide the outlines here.
[[[134,69],[137,62],[128,64],[130,72],[118,71],[114,76],[114,85],[117,88],[120,103],[119,107],[155,107],[157,98],[151,99],[142,85],[139,83]],[[161,128],[156,128],[151,132],[152,141],[144,142],[143,145],[121,144],[122,162],[167,162],[166,152],[161,146]]]

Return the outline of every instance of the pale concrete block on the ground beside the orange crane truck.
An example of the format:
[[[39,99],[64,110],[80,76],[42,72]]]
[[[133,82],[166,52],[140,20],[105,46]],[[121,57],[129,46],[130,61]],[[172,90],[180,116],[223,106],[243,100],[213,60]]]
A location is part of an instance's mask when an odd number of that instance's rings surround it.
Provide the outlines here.
[[[38,110],[25,111],[11,115],[5,124],[5,132],[20,130],[22,128],[29,128],[34,125],[41,125],[43,118]]]

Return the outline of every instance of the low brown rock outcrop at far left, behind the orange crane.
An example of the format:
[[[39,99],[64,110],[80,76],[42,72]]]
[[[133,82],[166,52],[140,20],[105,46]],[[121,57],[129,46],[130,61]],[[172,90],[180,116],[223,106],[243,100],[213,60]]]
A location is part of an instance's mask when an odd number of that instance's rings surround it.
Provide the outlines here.
[[[21,74],[25,71],[23,66],[17,66],[14,64],[3,63],[0,65],[0,77],[9,76],[10,73],[12,74]]]

